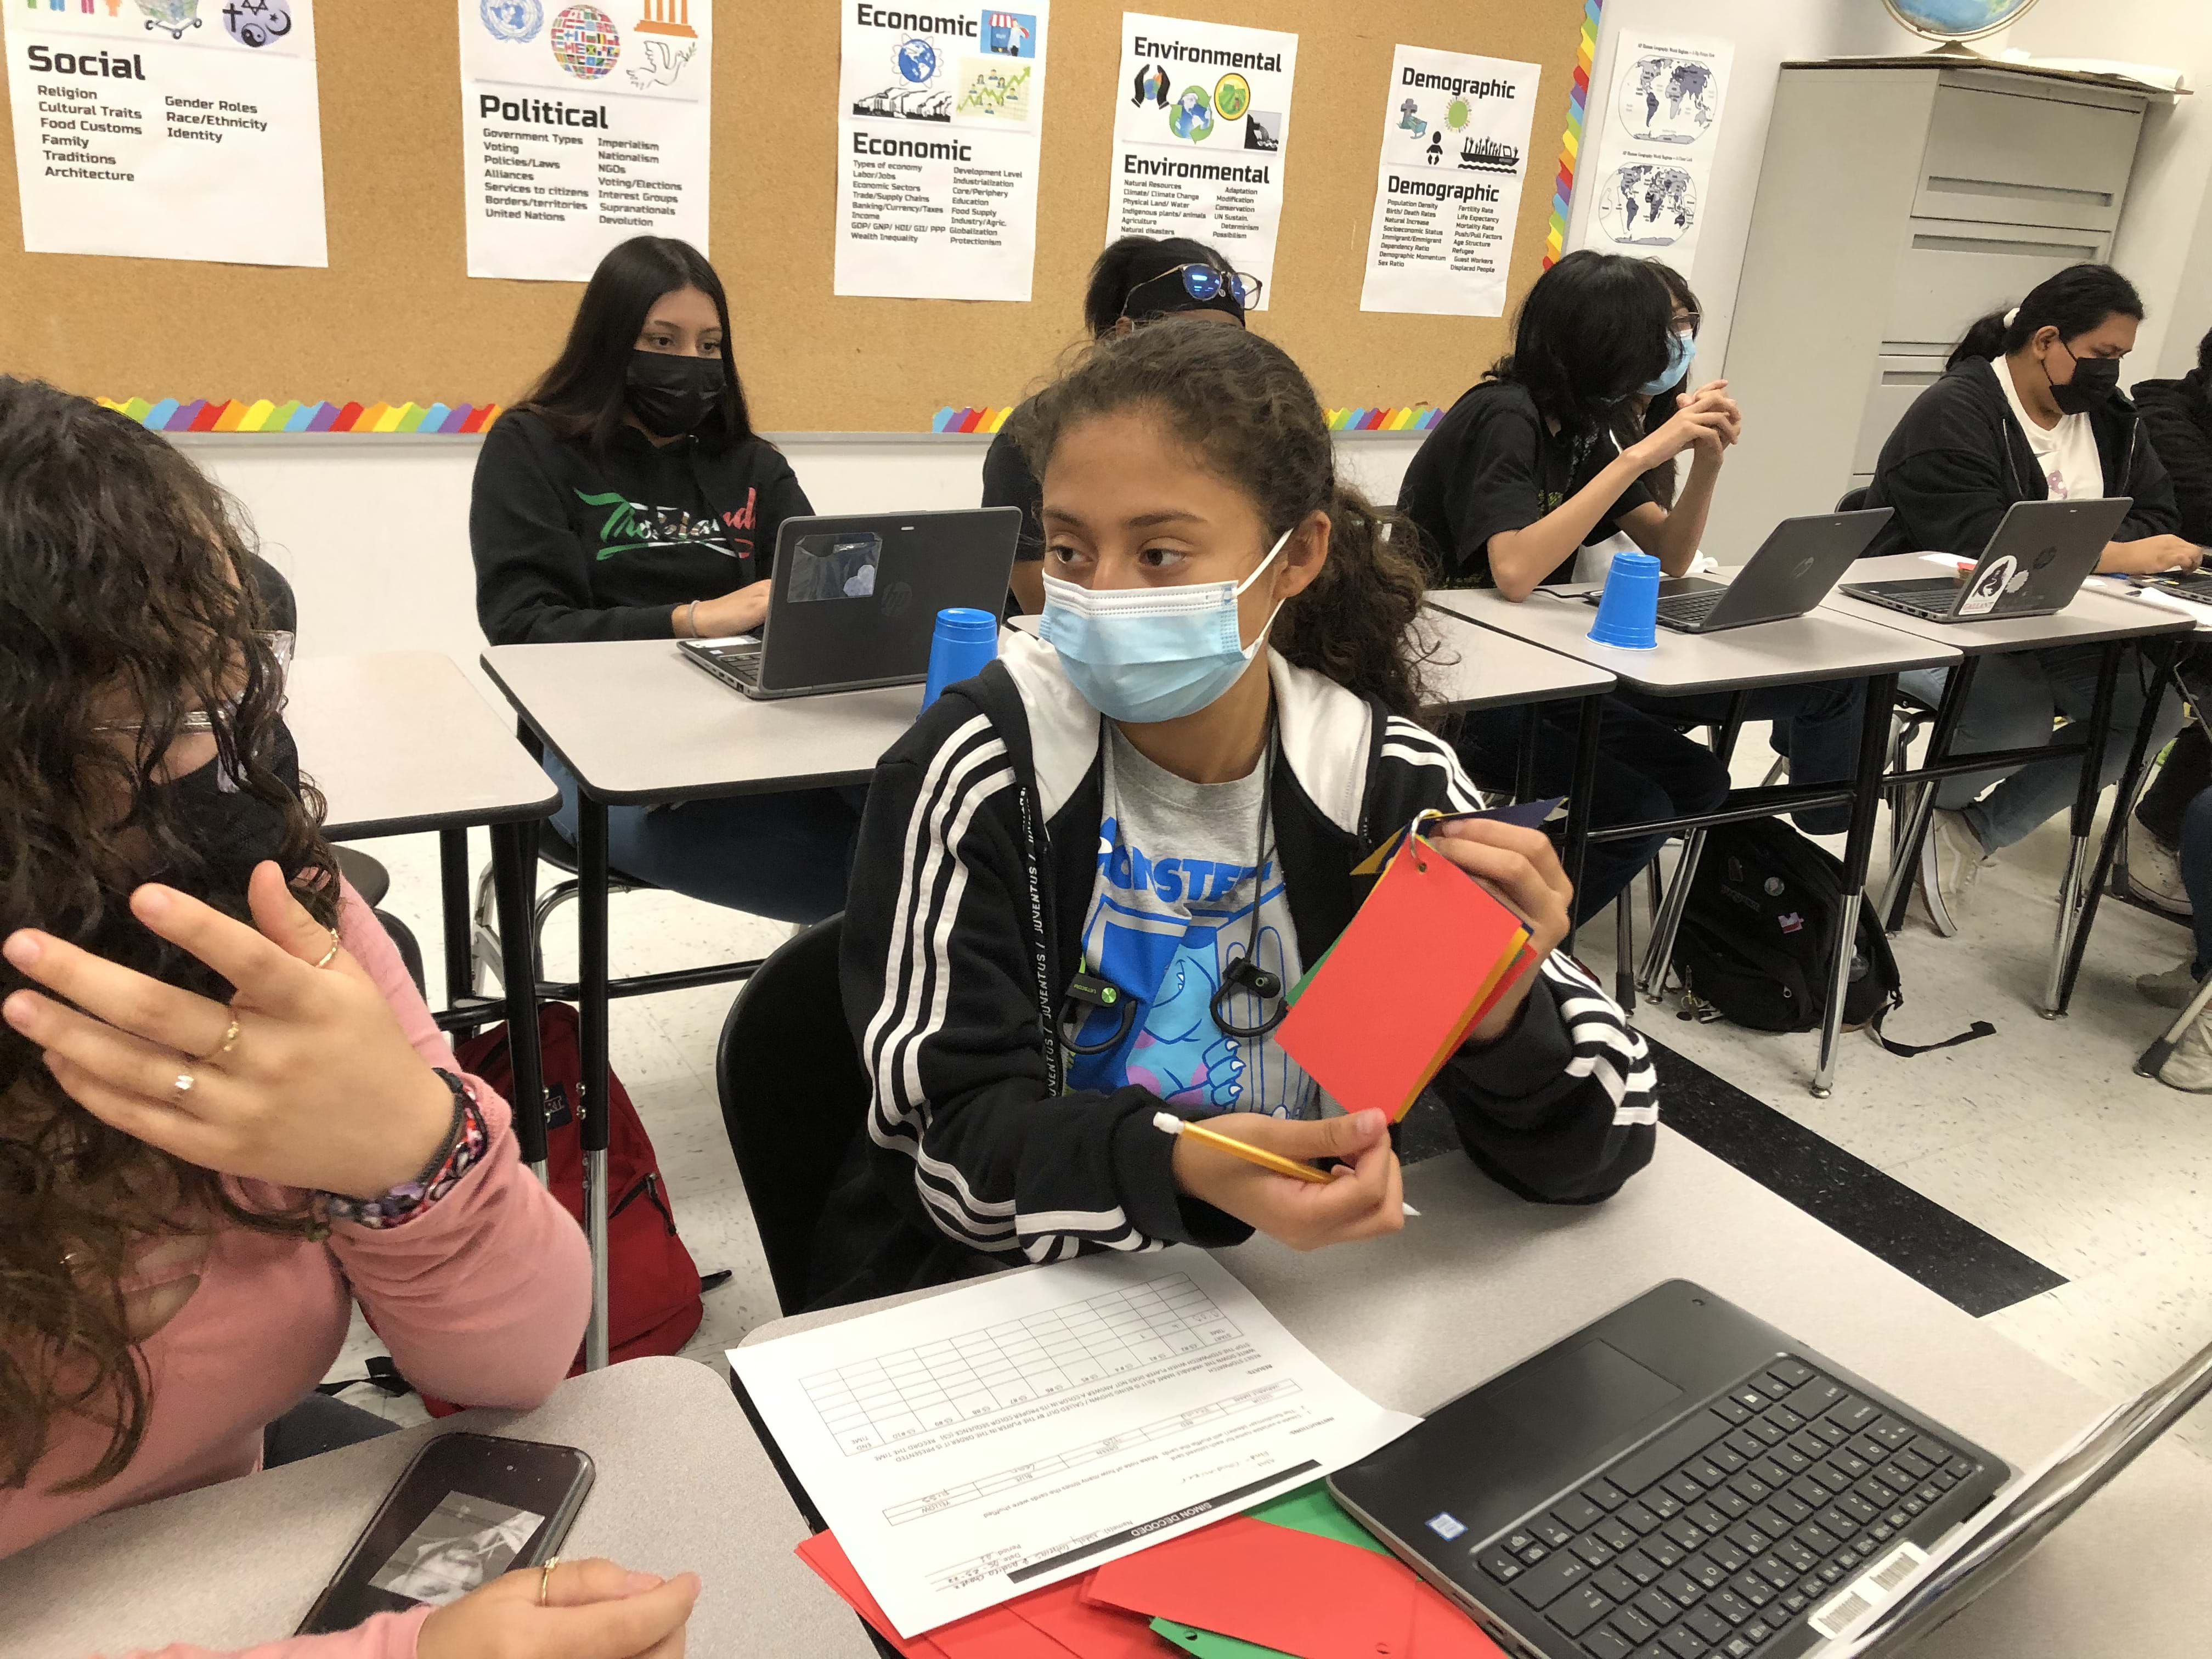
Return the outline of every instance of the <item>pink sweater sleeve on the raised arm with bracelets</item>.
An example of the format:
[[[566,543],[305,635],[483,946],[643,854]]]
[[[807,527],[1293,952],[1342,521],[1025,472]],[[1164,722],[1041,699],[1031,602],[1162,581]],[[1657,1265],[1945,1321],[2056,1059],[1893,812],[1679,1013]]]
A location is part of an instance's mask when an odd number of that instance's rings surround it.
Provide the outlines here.
[[[347,887],[338,936],[431,1066],[458,1071],[383,925]],[[575,1363],[591,1254],[575,1219],[522,1168],[507,1102],[469,1079],[491,1150],[396,1228],[338,1223],[330,1248],[400,1376],[458,1405],[533,1407]]]

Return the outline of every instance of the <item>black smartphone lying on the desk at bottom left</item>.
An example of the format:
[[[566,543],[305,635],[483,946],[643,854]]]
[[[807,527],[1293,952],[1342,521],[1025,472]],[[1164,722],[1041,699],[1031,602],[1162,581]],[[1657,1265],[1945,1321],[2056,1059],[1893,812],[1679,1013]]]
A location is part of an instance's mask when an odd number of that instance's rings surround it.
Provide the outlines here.
[[[407,1464],[294,1635],[458,1601],[500,1573],[544,1566],[591,1491],[575,1447],[447,1433]]]

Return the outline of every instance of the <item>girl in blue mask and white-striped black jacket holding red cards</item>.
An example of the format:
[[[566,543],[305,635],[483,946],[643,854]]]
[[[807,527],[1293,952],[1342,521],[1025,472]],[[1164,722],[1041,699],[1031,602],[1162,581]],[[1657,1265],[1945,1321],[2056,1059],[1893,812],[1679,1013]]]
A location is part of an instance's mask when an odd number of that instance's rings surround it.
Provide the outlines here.
[[[1480,805],[1420,726],[1409,526],[1385,535],[1312,385],[1234,327],[1099,341],[1037,394],[1024,445],[1042,637],[949,688],[863,816],[843,984],[872,1104],[816,1241],[823,1303],[1402,1217],[1383,1115],[1343,1115],[1274,1031],[1358,909],[1363,858]],[[1436,845],[1528,916],[1542,967],[1433,1091],[1509,1190],[1601,1199],[1650,1157],[1655,1079],[1553,951],[1571,891],[1551,843],[1462,823]],[[1159,1133],[1161,1110],[1345,1172],[1272,1175]]]

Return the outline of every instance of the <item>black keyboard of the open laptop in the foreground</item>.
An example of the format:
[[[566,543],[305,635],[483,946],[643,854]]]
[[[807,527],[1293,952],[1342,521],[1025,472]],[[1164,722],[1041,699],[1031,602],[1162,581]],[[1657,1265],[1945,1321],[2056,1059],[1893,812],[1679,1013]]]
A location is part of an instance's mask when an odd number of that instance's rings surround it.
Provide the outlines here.
[[[1750,1659],[1973,1469],[1781,1358],[1506,1528],[1475,1564],[1504,1590],[1491,1606],[1520,1599],[1515,1624],[1542,1615],[1590,1659]]]

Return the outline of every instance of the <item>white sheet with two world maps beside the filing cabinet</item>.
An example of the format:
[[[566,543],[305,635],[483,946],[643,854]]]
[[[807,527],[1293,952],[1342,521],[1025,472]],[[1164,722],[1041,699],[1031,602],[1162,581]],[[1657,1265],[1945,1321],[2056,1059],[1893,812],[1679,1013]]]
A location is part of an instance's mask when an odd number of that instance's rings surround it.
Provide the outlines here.
[[[1646,254],[1683,276],[1712,208],[1712,157],[1736,49],[1692,35],[1624,35],[1613,51],[1613,102],[1597,139],[1597,190],[1584,248]]]

